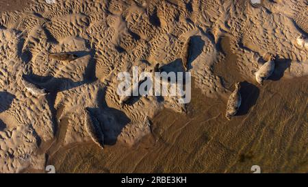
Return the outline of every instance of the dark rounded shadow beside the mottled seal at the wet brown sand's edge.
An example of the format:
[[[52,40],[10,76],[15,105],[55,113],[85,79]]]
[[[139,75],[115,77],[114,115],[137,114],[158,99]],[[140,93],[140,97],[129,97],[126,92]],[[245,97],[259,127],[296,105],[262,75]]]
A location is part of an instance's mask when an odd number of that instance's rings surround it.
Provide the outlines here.
[[[257,99],[260,94],[259,88],[249,82],[241,82],[240,86],[242,104],[240,105],[238,113],[235,116],[243,116],[248,114],[249,110],[251,110],[255,103],[257,103]]]

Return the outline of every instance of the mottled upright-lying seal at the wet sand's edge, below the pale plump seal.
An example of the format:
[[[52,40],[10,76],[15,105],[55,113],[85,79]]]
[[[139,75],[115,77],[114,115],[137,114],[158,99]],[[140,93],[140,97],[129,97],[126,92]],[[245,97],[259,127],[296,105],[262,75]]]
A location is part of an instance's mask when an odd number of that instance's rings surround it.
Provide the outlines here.
[[[235,84],[235,90],[231,93],[227,103],[226,118],[228,120],[231,120],[231,116],[234,116],[238,112],[241,103],[242,97],[240,94],[240,83],[238,82]]]

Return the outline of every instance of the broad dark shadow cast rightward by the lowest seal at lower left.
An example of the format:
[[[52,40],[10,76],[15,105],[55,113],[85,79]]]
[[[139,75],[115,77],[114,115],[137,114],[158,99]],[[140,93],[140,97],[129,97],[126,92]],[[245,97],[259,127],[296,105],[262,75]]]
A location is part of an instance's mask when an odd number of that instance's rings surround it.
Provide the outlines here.
[[[97,94],[98,108],[88,108],[92,115],[99,120],[105,138],[105,145],[115,145],[122,129],[131,122],[127,115],[110,108],[105,101],[105,89],[100,89]]]

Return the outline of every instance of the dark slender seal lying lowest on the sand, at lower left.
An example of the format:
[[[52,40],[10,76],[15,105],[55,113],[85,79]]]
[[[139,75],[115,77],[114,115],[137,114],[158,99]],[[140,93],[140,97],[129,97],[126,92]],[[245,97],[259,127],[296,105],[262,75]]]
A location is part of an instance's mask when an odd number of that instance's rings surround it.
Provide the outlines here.
[[[101,129],[101,125],[97,118],[93,116],[88,108],[85,109],[86,117],[85,117],[85,127],[86,131],[92,138],[92,140],[99,145],[102,149],[104,148],[104,134]]]

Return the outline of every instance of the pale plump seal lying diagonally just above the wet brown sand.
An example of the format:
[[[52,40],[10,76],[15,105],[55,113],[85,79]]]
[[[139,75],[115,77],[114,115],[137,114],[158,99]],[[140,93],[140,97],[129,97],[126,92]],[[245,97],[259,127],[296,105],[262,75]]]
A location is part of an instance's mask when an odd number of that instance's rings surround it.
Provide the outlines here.
[[[265,79],[268,79],[268,77],[272,75],[272,73],[274,72],[274,68],[275,62],[274,59],[271,58],[270,60],[268,60],[268,62],[263,64],[263,66],[261,66],[261,68],[259,68],[259,70],[255,73],[255,79],[257,80],[257,82],[262,85],[263,81]]]

